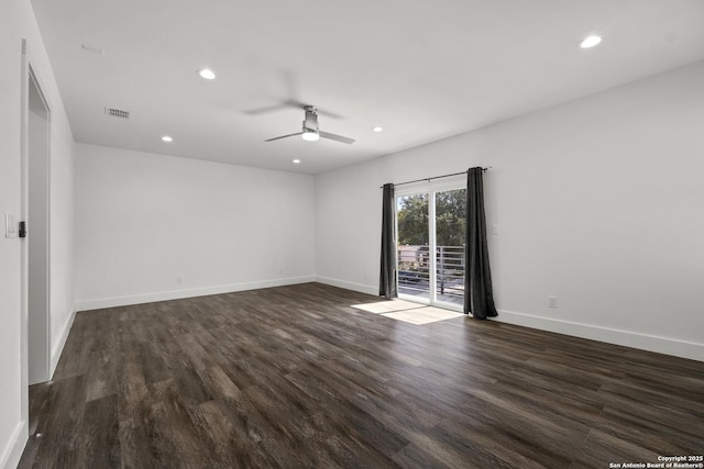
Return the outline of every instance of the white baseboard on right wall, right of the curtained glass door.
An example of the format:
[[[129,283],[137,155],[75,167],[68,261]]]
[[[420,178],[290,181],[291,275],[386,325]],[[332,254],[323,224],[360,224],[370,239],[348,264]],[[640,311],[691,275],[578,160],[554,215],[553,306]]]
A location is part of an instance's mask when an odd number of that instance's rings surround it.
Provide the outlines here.
[[[696,344],[693,342],[684,342],[669,337],[638,334],[630,331],[619,331],[569,321],[559,321],[551,317],[534,316],[504,310],[501,310],[498,312],[498,316],[492,317],[492,320],[541,331],[554,332],[558,334],[588,338],[592,340],[605,342],[608,344],[623,345],[626,347],[639,348],[642,350],[657,351],[659,354],[673,355],[675,357],[704,361],[704,344]]]

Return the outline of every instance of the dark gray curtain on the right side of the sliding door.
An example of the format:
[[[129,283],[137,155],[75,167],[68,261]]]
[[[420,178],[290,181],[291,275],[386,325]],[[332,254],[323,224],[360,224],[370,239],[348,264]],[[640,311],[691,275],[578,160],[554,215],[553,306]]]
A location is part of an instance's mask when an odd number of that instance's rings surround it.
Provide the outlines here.
[[[498,315],[494,305],[492,272],[486,246],[484,170],[466,172],[466,244],[464,246],[464,314],[485,320]]]

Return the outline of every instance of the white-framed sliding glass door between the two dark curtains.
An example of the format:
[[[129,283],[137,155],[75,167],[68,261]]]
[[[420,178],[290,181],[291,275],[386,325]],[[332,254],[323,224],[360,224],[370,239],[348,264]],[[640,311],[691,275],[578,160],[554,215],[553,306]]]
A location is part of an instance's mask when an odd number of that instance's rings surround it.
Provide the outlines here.
[[[426,189],[396,198],[399,297],[461,309],[465,189]]]

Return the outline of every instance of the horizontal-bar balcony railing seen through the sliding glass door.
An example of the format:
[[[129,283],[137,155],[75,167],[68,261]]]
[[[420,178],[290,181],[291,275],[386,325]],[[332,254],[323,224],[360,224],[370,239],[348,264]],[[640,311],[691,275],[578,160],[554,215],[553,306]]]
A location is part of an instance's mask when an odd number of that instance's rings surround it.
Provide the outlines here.
[[[428,246],[398,247],[399,293],[430,298]],[[464,246],[438,246],[436,252],[438,301],[462,304],[464,300]]]

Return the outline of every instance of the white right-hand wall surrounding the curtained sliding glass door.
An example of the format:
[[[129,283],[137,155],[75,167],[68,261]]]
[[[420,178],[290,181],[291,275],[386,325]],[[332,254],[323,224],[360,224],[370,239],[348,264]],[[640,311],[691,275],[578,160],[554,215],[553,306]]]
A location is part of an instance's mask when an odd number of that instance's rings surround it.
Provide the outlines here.
[[[377,291],[382,183],[492,166],[499,321],[704,360],[703,82],[704,62],[318,175],[319,280]]]

